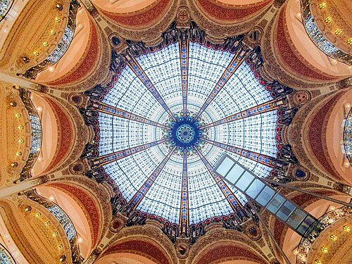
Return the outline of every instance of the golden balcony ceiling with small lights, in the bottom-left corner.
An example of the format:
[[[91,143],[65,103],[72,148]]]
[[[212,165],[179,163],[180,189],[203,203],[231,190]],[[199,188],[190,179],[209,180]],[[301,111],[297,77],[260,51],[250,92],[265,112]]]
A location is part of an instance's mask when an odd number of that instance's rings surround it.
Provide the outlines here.
[[[15,200],[1,201],[0,213],[11,238],[29,263],[55,263],[61,253],[70,252],[68,239],[62,239],[65,232],[56,218],[32,201],[20,197]],[[41,213],[39,218],[37,213]],[[48,220],[50,224],[46,225]],[[58,232],[56,237],[54,232]],[[59,244],[63,244],[62,250],[58,249]],[[69,260],[70,254],[67,255]]]

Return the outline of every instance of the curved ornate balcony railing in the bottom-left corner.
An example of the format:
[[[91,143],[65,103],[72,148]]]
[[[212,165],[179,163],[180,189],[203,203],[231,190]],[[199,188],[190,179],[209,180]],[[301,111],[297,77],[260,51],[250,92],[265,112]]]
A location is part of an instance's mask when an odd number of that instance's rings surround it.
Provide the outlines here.
[[[83,262],[82,256],[80,256],[80,249],[78,247],[78,237],[73,222],[70,220],[68,215],[60,208],[56,203],[44,198],[37,194],[37,191],[30,190],[24,192],[25,196],[32,201],[39,203],[41,206],[44,206],[54,217],[61,223],[65,234],[68,237],[70,242],[71,256],[73,264],[80,264]]]

